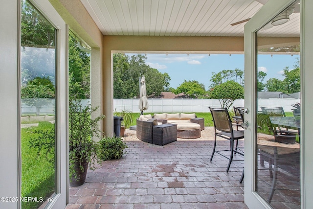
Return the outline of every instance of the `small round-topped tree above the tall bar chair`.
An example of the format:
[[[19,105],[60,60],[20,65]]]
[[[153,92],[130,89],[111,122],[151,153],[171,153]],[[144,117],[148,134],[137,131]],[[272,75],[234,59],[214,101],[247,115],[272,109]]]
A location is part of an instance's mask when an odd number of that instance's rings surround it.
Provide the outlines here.
[[[223,108],[229,109],[236,99],[244,98],[244,87],[235,81],[227,81],[215,86],[211,92],[212,99],[218,99]]]

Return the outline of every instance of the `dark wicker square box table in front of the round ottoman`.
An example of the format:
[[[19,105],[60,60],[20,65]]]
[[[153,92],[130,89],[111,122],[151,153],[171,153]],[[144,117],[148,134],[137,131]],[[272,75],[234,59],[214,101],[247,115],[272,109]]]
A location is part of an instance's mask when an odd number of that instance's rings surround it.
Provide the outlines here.
[[[163,146],[165,144],[177,141],[177,125],[161,124],[153,126],[152,143]]]

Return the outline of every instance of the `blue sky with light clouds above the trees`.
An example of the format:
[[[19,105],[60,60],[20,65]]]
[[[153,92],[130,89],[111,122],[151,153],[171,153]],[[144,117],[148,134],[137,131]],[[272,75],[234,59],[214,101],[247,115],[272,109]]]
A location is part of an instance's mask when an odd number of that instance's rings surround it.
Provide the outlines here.
[[[131,56],[131,54],[127,54]],[[296,64],[299,55],[258,55],[258,69],[267,73],[265,82],[269,78],[284,79],[285,67],[290,70]],[[244,54],[148,54],[146,63],[159,72],[167,72],[170,77],[170,87],[177,88],[184,80],[196,80],[204,84],[208,90],[211,85],[212,72],[222,70],[244,70]]]

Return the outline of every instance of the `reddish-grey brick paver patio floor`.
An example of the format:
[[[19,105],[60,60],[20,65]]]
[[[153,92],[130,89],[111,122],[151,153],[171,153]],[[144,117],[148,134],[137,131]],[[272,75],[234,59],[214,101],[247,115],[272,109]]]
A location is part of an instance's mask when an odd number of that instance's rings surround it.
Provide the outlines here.
[[[199,139],[164,146],[140,141],[129,129],[124,140],[127,154],[89,170],[84,185],[69,189],[66,209],[247,209],[243,161],[232,162],[228,173],[227,159],[216,154],[210,162],[213,127]],[[217,149],[223,147],[229,141],[219,140]]]

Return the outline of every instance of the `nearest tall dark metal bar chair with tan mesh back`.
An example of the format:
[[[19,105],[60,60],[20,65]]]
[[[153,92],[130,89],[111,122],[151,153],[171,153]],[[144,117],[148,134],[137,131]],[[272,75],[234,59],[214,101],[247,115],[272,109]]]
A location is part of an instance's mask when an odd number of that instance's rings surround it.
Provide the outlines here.
[[[217,153],[229,160],[226,172],[228,172],[230,164],[232,161],[243,161],[243,160],[233,160],[233,154],[238,153],[244,156],[244,152],[240,149],[234,149],[234,142],[239,139],[244,139],[245,133],[242,131],[233,130],[232,121],[226,108],[210,108],[214,123],[214,147],[210,162],[213,159],[214,153]],[[216,151],[216,138],[221,137],[230,141],[230,149],[228,150],[218,150]],[[230,152],[230,156],[227,157],[223,152]]]

